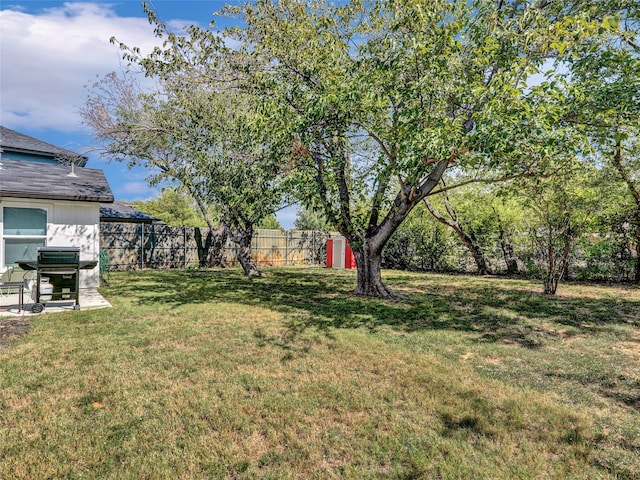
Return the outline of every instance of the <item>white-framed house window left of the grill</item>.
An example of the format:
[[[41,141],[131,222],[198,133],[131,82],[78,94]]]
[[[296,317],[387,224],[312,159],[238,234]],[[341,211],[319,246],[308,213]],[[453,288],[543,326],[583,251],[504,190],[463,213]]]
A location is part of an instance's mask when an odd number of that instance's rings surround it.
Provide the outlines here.
[[[47,239],[47,211],[43,208],[4,207],[4,263],[35,260]]]

